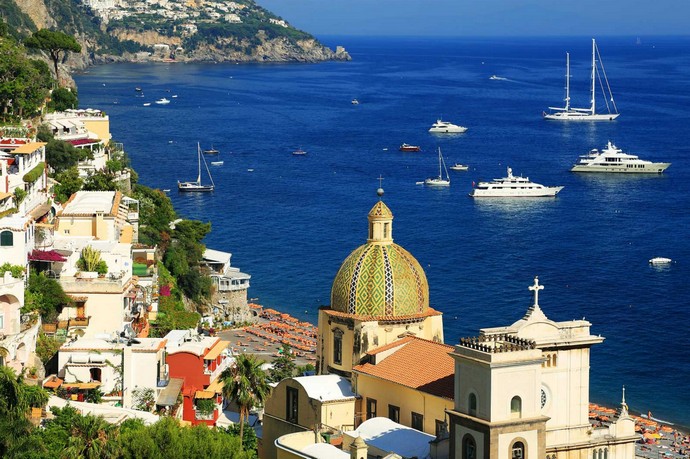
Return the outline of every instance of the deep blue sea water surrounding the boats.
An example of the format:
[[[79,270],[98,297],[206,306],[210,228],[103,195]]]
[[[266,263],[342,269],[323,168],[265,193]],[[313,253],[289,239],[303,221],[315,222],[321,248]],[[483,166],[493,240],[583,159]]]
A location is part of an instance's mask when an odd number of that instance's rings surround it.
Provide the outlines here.
[[[585,317],[606,337],[592,348],[593,401],[617,404],[625,385],[632,409],[690,425],[690,38],[599,39],[622,115],[583,124],[541,113],[562,103],[566,51],[572,104],[589,104],[589,37],[323,40],[353,60],[104,65],[76,77],[80,103],[110,115],[142,183],[212,222],[208,246],[232,252],[263,305],[316,322],[340,263],[365,242],[382,176],[394,238],[424,267],[447,343],[521,318],[538,275],[549,318]],[[143,106],[161,97],[172,102]],[[429,134],[438,117],[469,131]],[[569,172],[608,140],[672,166]],[[197,142],[221,152],[216,191],[178,194],[177,180],[196,177]],[[423,152],[401,153],[403,142]],[[308,154],[292,156],[299,147]],[[437,171],[437,147],[471,166],[451,171],[449,189],[416,185]],[[565,188],[556,199],[468,197],[507,166]],[[655,256],[676,262],[655,268]]]

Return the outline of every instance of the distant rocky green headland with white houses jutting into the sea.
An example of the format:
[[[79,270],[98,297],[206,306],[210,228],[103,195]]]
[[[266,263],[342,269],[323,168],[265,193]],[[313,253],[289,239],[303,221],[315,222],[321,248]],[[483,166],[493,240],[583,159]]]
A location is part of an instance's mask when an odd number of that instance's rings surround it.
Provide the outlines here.
[[[316,62],[349,60],[253,0],[0,0],[11,30],[74,35],[71,68],[108,61]]]

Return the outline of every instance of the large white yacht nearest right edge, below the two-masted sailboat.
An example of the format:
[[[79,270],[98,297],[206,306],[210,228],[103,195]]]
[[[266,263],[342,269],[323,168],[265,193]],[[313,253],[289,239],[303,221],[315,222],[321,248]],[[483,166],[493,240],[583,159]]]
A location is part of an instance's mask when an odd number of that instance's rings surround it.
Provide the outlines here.
[[[606,148],[596,148],[580,156],[573,172],[620,172],[624,174],[661,174],[671,163],[653,163],[624,153],[609,141]]]

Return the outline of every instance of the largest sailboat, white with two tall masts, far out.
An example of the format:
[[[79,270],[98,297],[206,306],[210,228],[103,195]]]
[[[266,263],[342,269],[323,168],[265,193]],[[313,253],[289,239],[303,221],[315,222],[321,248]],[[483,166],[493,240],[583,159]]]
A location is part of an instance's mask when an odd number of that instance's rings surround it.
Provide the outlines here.
[[[618,107],[613,100],[613,93],[609,80],[606,77],[604,63],[599,54],[596,40],[592,38],[592,85],[591,85],[591,105],[589,108],[574,108],[570,106],[570,53],[565,53],[565,106],[549,107],[549,113],[543,112],[545,120],[557,121],[612,121],[618,118]],[[596,93],[597,82],[604,95],[604,101],[608,113],[597,113]]]

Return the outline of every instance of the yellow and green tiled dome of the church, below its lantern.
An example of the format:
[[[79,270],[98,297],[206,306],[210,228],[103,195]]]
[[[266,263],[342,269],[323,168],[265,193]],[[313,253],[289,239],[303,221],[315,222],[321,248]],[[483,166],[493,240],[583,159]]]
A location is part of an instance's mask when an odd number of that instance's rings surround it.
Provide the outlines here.
[[[365,244],[343,262],[333,281],[331,308],[348,314],[398,317],[429,307],[419,262],[397,244]]]

